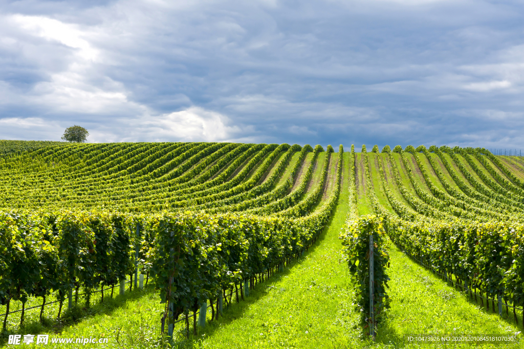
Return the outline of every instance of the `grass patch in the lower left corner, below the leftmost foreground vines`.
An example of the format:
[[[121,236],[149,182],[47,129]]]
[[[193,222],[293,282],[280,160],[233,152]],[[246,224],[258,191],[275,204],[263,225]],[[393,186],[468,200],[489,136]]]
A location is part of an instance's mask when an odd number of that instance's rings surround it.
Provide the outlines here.
[[[118,294],[118,287],[115,287]],[[49,344],[46,347],[64,347],[65,344],[53,344],[53,337],[107,337],[108,346],[116,347],[149,347],[158,341],[159,319],[163,310],[159,302],[158,292],[155,291],[151,280],[143,290],[136,289],[126,292],[123,296],[114,298],[92,298],[89,309],[83,307],[83,299],[79,299],[77,306],[72,309],[62,309],[60,320],[56,320],[56,313],[52,317],[45,317],[43,324],[38,322],[38,312],[35,318],[30,315],[26,318],[23,328],[10,326],[8,331],[0,336],[0,346],[7,345],[9,334],[49,334]],[[64,305],[67,308],[67,303]],[[51,308],[51,306],[49,307]],[[38,310],[38,309],[35,309]],[[140,343],[138,343],[140,341]],[[10,345],[7,345],[8,347]],[[25,347],[40,347],[35,343]],[[102,344],[68,344],[68,347],[100,347]]]

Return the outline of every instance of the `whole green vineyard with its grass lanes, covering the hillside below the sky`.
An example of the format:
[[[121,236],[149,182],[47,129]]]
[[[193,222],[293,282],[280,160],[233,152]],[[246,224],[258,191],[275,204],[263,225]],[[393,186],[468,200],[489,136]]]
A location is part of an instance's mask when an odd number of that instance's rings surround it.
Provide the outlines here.
[[[0,173],[0,346],[405,347],[524,325],[518,156],[0,141]]]

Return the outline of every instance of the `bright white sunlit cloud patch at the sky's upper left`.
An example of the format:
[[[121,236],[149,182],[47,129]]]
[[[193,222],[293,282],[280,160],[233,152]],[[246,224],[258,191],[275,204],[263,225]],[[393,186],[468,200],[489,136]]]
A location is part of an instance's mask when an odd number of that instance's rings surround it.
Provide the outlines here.
[[[27,42],[26,37],[21,36],[24,35],[48,41],[57,47],[64,46],[71,53],[62,69],[49,71],[49,61],[53,61],[53,55],[60,55],[60,51],[55,53],[45,47],[24,49],[28,60],[39,62],[41,69],[48,71],[48,78],[36,82],[30,92],[20,96],[25,103],[58,114],[126,114],[136,117],[149,112],[147,106],[128,99],[129,91],[124,84],[99,70],[103,63],[103,49],[97,48],[91,40],[96,41],[104,33],[45,16],[15,14],[5,19],[23,33],[18,34],[19,46],[39,45],[38,41]],[[42,61],[42,56],[50,58]]]

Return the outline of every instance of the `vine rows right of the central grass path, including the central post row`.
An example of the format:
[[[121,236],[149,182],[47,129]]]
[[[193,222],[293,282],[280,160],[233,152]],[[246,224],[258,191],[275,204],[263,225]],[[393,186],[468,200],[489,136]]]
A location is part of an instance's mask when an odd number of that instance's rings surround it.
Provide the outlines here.
[[[441,275],[475,302],[500,315],[511,307],[515,323],[524,306],[524,170],[518,159],[486,149],[428,149],[411,145],[354,154],[352,209],[341,234],[344,254],[369,319],[366,259],[375,241],[376,322],[385,319],[386,234],[414,261]],[[365,215],[375,213],[376,216]],[[394,296],[394,295],[392,295]],[[496,310],[497,308],[497,310]],[[517,314],[519,313],[519,314]],[[519,320],[520,318],[520,320]]]

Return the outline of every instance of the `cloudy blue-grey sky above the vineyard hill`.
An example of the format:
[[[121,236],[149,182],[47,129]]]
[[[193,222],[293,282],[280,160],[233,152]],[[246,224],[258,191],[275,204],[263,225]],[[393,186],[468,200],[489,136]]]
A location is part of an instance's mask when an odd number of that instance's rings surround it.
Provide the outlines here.
[[[524,148],[524,2],[0,1],[0,139]]]

